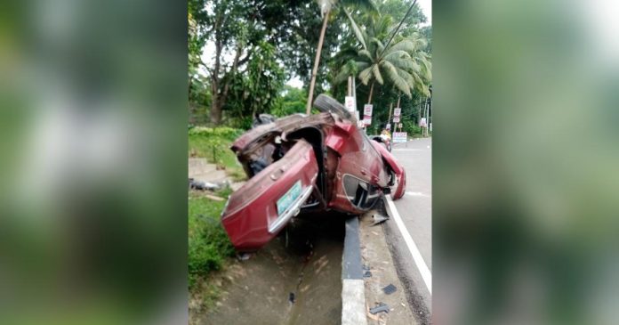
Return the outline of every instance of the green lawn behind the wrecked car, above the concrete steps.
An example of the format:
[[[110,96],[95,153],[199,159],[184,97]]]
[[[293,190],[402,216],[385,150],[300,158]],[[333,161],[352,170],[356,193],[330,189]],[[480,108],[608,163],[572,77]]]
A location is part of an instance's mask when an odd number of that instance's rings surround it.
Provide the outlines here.
[[[246,180],[245,172],[237,162],[237,156],[229,149],[242,130],[229,127],[189,129],[189,157],[206,158],[210,163],[223,167],[235,181]]]

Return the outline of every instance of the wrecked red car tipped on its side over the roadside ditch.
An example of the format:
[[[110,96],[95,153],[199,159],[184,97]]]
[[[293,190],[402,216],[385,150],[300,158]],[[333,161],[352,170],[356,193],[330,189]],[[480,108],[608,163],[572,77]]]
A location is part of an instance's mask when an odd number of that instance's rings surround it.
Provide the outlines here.
[[[361,214],[383,194],[404,195],[404,168],[324,94],[317,115],[296,114],[256,126],[231,146],[249,181],[221,213],[239,252],[272,240],[294,216],[326,210]]]

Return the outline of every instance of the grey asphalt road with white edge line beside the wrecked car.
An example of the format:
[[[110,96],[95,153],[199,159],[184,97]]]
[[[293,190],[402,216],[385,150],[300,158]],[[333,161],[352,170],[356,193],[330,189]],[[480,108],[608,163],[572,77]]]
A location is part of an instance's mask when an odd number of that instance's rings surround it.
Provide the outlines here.
[[[421,254],[422,263],[432,270],[432,140],[416,139],[397,143],[391,153],[406,169],[406,194],[393,201],[398,215]],[[392,215],[393,217],[393,215]],[[397,259],[398,274],[410,288],[409,297],[413,309],[431,313],[431,288],[422,279],[420,261],[415,262],[410,245],[398,229],[395,220],[387,226],[391,249]],[[426,269],[426,270],[427,270]],[[430,281],[431,282],[431,281]],[[427,315],[430,317],[430,315]],[[422,321],[425,322],[425,321]]]

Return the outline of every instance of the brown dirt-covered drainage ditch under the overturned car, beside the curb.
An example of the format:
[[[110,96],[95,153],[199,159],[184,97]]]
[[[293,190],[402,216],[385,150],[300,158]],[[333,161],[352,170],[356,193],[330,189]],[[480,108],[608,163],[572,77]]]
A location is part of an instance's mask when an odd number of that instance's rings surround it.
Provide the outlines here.
[[[294,220],[249,260],[214,275],[219,298],[190,311],[190,323],[340,323],[343,229],[337,217]]]

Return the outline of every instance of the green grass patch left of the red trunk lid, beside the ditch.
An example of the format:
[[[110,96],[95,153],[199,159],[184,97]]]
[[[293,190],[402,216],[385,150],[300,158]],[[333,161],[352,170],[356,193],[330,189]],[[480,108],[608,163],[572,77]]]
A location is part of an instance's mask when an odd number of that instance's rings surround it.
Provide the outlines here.
[[[226,190],[218,193],[227,195]],[[225,201],[216,201],[189,192],[189,289],[215,270],[235,251],[220,221]]]

